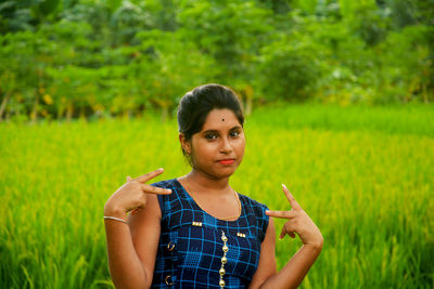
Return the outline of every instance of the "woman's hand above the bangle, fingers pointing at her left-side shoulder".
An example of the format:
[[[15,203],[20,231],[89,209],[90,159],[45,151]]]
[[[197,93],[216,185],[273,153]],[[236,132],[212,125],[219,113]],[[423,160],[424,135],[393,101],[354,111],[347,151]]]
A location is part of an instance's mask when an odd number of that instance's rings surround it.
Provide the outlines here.
[[[143,209],[146,206],[148,194],[168,195],[170,189],[155,187],[145,184],[148,181],[163,173],[163,168],[153,172],[131,179],[127,176],[127,183],[120,186],[104,206],[104,215],[126,218],[132,210]]]

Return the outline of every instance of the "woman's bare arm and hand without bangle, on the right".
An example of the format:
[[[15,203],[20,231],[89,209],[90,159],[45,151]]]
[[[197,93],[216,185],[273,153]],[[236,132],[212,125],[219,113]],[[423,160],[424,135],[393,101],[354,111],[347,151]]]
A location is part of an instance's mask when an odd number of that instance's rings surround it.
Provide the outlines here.
[[[297,288],[321,252],[323,238],[320,231],[285,186],[283,186],[283,191],[293,209],[291,211],[268,211],[267,214],[289,219],[282,228],[280,238],[286,234],[295,238],[296,233],[301,237],[303,246],[286,265],[276,273],[275,224],[270,219],[261,245],[258,270],[252,279],[251,288]]]

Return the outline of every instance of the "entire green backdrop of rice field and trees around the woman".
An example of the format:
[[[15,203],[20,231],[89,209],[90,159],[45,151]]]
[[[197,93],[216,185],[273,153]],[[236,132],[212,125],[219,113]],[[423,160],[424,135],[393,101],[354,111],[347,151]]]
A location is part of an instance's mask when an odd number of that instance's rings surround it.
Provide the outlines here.
[[[324,235],[301,288],[434,288],[434,0],[0,0],[0,287],[114,288],[103,203],[190,170],[206,82],[254,111],[234,187]]]

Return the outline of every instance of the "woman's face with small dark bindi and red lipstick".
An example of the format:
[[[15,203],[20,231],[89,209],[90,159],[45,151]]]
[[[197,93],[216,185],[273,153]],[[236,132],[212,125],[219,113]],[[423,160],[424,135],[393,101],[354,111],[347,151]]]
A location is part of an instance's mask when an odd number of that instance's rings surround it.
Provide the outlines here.
[[[214,179],[233,174],[243,160],[244,131],[232,110],[213,109],[202,130],[192,135],[188,145],[193,168]]]

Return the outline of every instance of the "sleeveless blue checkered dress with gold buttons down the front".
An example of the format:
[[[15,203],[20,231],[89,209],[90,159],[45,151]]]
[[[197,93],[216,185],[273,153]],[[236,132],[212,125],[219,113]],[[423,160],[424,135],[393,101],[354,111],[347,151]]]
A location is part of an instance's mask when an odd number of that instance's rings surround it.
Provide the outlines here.
[[[248,287],[268,226],[267,207],[239,194],[240,218],[222,221],[203,211],[176,179],[152,185],[173,193],[158,195],[162,229],[151,288],[220,288],[222,232],[229,248],[225,288]]]

